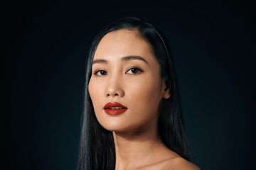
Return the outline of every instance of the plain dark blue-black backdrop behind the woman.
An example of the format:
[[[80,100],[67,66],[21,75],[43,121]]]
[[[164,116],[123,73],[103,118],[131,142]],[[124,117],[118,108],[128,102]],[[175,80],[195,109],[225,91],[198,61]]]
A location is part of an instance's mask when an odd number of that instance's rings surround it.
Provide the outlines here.
[[[194,162],[256,167],[252,2],[2,1],[0,8],[5,169],[76,169],[87,52],[124,16],[169,39]]]

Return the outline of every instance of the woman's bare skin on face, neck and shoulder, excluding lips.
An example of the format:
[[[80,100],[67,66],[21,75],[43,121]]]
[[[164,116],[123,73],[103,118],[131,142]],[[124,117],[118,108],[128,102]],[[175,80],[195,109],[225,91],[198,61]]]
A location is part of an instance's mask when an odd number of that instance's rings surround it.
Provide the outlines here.
[[[171,96],[164,81],[159,62],[137,30],[112,31],[100,41],[88,90],[97,120],[113,132],[115,169],[198,169],[168,149],[158,135],[161,99]],[[107,115],[103,108],[109,102],[128,109]]]

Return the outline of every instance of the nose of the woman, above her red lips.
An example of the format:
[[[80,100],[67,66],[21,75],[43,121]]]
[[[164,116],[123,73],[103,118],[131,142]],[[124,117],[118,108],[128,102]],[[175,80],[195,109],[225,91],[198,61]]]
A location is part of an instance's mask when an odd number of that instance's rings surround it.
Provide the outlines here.
[[[110,77],[109,82],[107,84],[107,89],[105,96],[124,96],[124,89],[122,86],[122,80],[119,77]]]

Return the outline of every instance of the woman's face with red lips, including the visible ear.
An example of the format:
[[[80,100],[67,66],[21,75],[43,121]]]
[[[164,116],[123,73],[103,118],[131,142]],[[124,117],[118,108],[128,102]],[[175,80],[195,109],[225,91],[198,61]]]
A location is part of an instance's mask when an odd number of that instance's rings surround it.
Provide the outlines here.
[[[137,30],[116,30],[95,52],[89,94],[103,128],[124,132],[157,125],[161,98],[169,98],[159,62]]]

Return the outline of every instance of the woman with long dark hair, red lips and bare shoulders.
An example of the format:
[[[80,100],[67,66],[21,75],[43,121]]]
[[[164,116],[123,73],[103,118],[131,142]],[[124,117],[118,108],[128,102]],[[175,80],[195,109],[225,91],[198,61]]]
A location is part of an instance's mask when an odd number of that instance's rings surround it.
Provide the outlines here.
[[[110,24],[92,43],[78,169],[198,169],[188,162],[168,43],[138,18]]]

